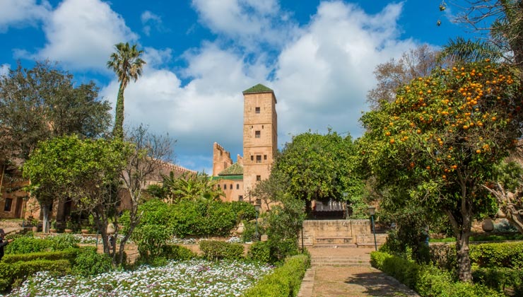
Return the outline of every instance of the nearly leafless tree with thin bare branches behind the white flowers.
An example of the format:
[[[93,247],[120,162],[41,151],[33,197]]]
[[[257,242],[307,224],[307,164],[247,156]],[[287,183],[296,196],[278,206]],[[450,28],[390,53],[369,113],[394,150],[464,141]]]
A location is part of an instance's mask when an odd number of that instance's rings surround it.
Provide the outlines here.
[[[127,195],[129,199],[129,228],[124,238],[120,240],[119,262],[123,260],[127,240],[140,222],[139,206],[145,202],[146,195],[144,194],[146,194],[148,180],[158,174],[164,163],[170,161],[172,154],[172,141],[168,135],[151,134],[143,126],[131,130],[126,141],[132,144],[132,151],[120,173],[119,180],[123,183],[120,187],[121,194]],[[114,236],[117,236],[118,217],[114,216],[113,219]],[[114,245],[114,249],[116,249],[116,245]]]

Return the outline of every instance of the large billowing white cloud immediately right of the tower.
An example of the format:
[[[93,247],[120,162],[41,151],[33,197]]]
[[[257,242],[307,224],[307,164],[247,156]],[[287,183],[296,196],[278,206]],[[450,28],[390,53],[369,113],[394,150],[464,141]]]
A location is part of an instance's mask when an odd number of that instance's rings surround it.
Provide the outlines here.
[[[375,86],[375,66],[416,46],[397,40],[401,4],[371,16],[358,6],[323,2],[295,42],[278,57],[274,88],[280,136],[312,129],[362,132],[358,119]]]

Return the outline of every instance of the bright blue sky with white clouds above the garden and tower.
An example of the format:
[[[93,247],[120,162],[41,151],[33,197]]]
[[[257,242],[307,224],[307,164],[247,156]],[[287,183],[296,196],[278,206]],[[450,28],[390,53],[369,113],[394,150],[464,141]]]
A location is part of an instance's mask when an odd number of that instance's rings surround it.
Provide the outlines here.
[[[466,36],[440,3],[0,0],[0,74],[50,59],[114,105],[105,63],[114,44],[137,43],[148,64],[126,90],[125,124],[169,133],[175,163],[211,172],[213,142],[242,154],[242,91],[257,83],[278,98],[280,148],[309,129],[360,136],[377,64]]]

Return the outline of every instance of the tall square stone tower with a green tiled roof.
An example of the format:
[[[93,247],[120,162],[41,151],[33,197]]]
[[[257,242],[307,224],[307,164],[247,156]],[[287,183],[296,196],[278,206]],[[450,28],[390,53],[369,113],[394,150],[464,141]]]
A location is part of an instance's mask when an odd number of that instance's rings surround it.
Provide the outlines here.
[[[249,197],[256,182],[271,173],[278,148],[278,124],[276,96],[270,88],[258,84],[243,91],[243,98],[243,185],[245,197]]]

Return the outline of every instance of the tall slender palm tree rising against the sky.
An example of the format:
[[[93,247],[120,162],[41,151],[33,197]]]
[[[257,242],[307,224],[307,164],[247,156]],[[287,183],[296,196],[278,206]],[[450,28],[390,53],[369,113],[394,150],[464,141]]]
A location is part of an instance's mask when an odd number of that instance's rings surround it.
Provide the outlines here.
[[[146,64],[140,55],[143,50],[136,50],[136,45],[129,47],[129,42],[120,42],[114,45],[116,52],[111,54],[110,60],[107,61],[107,68],[112,69],[118,76],[120,86],[118,89],[118,98],[116,101],[116,117],[114,119],[114,129],[112,134],[119,139],[124,138],[124,90],[127,83],[132,78],[134,81],[141,76],[141,69]]]

